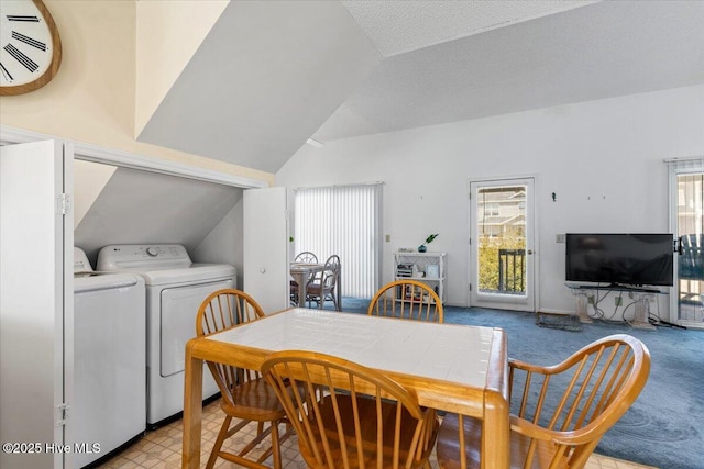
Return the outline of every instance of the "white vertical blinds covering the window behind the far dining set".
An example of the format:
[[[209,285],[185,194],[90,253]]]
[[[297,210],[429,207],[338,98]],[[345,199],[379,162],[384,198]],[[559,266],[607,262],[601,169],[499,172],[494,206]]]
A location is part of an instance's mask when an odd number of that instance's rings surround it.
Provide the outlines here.
[[[337,254],[343,297],[372,298],[381,278],[382,183],[296,189],[295,252]]]

